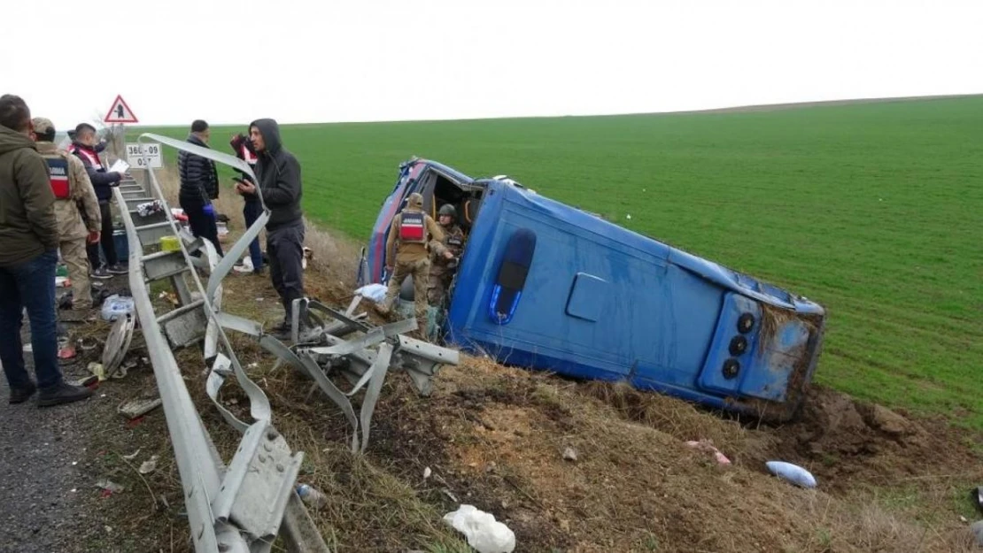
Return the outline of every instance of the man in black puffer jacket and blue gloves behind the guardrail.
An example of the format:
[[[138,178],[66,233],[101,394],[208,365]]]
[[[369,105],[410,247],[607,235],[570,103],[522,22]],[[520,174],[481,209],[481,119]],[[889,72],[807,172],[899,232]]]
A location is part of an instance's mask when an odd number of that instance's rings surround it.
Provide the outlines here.
[[[199,119],[191,124],[188,141],[206,148],[210,136],[208,124]],[[215,163],[201,155],[181,150],[178,152],[178,173],[181,176],[178,201],[188,216],[192,234],[207,239],[215,246],[219,256],[224,255],[222,246],[218,243],[215,208],[211,204],[211,200],[218,197],[218,172],[215,171]]]

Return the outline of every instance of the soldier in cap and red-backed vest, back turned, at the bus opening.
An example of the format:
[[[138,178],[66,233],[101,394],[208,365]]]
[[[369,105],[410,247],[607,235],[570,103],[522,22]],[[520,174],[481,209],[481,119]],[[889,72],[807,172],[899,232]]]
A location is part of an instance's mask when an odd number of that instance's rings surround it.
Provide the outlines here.
[[[427,324],[427,285],[430,282],[430,249],[443,241],[443,232],[434,218],[424,213],[424,196],[410,194],[406,207],[392,218],[385,241],[385,264],[389,289],[376,311],[388,315],[406,275],[413,275],[413,300],[422,328]]]

